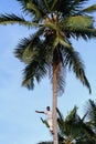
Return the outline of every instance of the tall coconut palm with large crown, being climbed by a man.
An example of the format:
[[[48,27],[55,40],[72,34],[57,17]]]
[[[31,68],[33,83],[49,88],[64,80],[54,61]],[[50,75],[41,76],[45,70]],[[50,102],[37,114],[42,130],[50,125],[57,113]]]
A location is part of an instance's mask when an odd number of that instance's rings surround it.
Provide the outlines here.
[[[34,88],[47,73],[53,85],[53,131],[57,144],[57,95],[64,92],[65,69],[73,71],[77,79],[90,85],[85,75],[79,53],[71,43],[71,38],[89,40],[96,37],[92,12],[96,4],[83,9],[87,0],[17,0],[23,13],[1,14],[0,24],[14,24],[35,29],[35,33],[22,39],[15,48],[15,56],[25,63],[22,85]],[[89,14],[88,14],[89,13]]]

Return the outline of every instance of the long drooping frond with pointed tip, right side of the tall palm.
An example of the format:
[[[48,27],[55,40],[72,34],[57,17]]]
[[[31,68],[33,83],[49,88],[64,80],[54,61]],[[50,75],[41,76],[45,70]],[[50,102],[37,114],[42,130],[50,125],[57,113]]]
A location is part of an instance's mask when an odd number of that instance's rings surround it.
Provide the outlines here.
[[[84,64],[81,60],[79,53],[71,49],[65,49],[64,51],[64,64],[67,65],[70,70],[73,70],[76,78],[79,79],[81,82],[85,86],[87,86],[89,93],[92,93],[90,85],[85,75]]]

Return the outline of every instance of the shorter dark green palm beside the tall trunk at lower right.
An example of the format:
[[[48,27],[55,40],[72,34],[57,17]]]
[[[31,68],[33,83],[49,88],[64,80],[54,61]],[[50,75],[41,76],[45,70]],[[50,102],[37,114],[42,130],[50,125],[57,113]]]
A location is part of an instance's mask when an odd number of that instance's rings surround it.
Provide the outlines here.
[[[95,144],[96,143],[96,134],[90,127],[92,120],[86,120],[87,112],[81,119],[77,114],[77,107],[70,112],[66,119],[63,117],[61,112],[58,111],[58,127],[60,135],[63,137],[64,144]]]

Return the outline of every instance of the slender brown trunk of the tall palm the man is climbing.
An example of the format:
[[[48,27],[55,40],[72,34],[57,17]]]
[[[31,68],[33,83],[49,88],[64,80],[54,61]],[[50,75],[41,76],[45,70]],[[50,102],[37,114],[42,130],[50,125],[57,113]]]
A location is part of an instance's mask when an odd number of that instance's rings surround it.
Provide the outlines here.
[[[53,144],[58,144],[56,107],[57,107],[57,65],[53,64]]]

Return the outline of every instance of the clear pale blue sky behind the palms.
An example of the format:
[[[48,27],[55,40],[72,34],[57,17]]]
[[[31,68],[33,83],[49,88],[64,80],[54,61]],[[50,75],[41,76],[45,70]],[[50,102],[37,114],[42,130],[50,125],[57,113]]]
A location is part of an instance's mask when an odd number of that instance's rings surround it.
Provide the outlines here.
[[[96,1],[93,0],[93,3]],[[89,2],[92,4],[92,2]],[[20,13],[15,0],[0,0],[0,13]],[[36,144],[51,140],[49,130],[42,124],[35,110],[52,107],[52,88],[49,78],[35,84],[34,91],[21,86],[24,68],[13,55],[19,40],[28,37],[32,30],[19,25],[0,25],[0,144]],[[58,97],[58,109],[66,115],[74,105],[83,115],[88,99],[96,99],[96,39],[85,42],[73,41],[86,65],[86,75],[92,85],[92,95],[87,89],[75,79],[72,72],[66,74],[66,86],[63,96]]]

